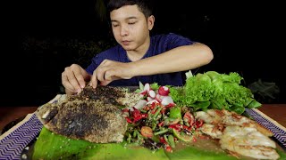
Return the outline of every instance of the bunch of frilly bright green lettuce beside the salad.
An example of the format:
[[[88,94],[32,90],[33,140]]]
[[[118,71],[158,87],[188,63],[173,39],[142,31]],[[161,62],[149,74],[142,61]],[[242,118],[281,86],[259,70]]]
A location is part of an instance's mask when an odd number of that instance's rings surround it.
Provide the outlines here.
[[[208,71],[189,76],[186,84],[171,87],[170,95],[177,105],[195,110],[208,108],[227,109],[242,114],[245,108],[259,108],[261,103],[254,99],[250,89],[240,85],[243,78],[236,72],[229,75]]]

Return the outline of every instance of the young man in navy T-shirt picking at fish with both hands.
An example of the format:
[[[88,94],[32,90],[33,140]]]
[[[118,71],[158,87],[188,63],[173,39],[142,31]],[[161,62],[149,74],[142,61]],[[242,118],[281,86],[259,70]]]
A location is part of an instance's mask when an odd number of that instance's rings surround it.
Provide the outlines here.
[[[213,60],[205,44],[175,34],[150,37],[155,17],[147,0],[110,0],[108,4],[114,38],[119,45],[97,54],[88,68],[72,64],[62,82],[67,94],[80,92],[89,82],[101,85],[182,85],[181,71]]]

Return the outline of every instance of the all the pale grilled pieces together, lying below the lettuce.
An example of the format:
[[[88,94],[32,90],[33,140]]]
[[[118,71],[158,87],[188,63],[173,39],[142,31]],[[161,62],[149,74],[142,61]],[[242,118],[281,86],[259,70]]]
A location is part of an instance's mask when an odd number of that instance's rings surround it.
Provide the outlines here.
[[[263,125],[228,110],[208,109],[196,112],[205,122],[200,131],[219,140],[223,149],[257,159],[278,159],[273,132]]]

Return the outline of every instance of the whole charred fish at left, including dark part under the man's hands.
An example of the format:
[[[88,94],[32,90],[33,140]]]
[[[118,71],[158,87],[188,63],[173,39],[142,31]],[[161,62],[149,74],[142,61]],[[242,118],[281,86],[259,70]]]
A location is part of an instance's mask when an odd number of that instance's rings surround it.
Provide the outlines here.
[[[71,139],[122,142],[127,122],[118,106],[134,103],[130,95],[139,97],[123,88],[87,87],[78,95],[46,103],[36,115],[48,130]]]

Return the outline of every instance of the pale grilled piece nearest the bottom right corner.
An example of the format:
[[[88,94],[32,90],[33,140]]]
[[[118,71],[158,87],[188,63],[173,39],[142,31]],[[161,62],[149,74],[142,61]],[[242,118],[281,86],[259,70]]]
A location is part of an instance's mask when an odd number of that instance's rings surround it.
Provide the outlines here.
[[[258,132],[256,128],[227,126],[223,131],[220,144],[223,149],[256,159],[279,159],[280,157],[274,149],[275,142]]]

